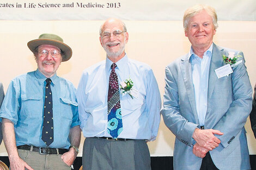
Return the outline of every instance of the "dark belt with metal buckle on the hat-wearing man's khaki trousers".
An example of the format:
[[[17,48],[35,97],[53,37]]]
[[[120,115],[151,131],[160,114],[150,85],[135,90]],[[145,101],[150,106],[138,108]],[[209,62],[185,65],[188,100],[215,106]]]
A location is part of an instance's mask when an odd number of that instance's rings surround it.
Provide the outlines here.
[[[18,146],[17,148],[22,149],[22,150],[31,150],[31,147],[32,146],[25,144],[25,145]],[[40,154],[60,154],[60,155],[62,155],[64,153],[68,152],[69,149],[42,148],[42,147],[33,146],[32,151],[38,152]]]

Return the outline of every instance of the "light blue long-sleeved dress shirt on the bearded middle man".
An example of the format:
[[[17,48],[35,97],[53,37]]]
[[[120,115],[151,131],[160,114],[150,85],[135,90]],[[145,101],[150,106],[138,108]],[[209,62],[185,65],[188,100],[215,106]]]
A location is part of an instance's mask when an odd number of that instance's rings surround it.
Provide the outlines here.
[[[77,89],[78,110],[84,137],[111,137],[107,133],[108,79],[113,62],[108,58],[83,71]],[[155,140],[160,123],[161,98],[151,68],[124,58],[116,62],[118,83],[131,78],[138,97],[120,94],[123,131],[119,138]]]

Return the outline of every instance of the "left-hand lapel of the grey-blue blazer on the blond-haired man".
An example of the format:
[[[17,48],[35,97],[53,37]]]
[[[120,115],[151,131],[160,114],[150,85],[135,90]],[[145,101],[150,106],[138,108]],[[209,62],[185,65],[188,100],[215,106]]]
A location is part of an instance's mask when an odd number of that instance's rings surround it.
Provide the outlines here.
[[[187,97],[188,100],[190,102],[193,114],[194,114],[194,118],[196,120],[196,123],[199,124],[199,119],[198,119],[198,115],[197,115],[197,109],[196,109],[196,100],[194,97],[194,86],[193,86],[193,80],[192,80],[192,68],[191,68],[191,64],[188,61],[188,54],[185,55],[184,58],[181,59],[180,62],[180,69],[182,72],[182,77],[184,80],[184,84],[186,87],[186,91],[187,91]]]

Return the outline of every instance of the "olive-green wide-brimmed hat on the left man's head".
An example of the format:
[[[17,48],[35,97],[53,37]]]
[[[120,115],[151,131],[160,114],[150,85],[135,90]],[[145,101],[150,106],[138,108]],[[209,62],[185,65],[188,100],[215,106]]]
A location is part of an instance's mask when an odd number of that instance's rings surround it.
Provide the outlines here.
[[[52,45],[60,48],[64,54],[62,61],[68,61],[72,56],[72,49],[63,42],[63,39],[58,35],[54,34],[42,34],[38,39],[31,40],[28,42],[28,48],[35,53],[35,49],[40,45]]]

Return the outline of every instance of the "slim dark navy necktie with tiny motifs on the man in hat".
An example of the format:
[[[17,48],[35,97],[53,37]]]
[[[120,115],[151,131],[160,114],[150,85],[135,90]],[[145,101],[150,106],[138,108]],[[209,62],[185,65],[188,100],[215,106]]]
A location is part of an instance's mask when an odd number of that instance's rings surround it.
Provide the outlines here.
[[[42,141],[49,146],[53,142],[53,113],[51,79],[47,78],[45,86],[44,122],[42,124]]]

